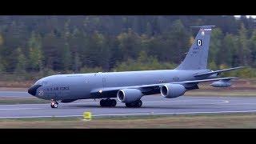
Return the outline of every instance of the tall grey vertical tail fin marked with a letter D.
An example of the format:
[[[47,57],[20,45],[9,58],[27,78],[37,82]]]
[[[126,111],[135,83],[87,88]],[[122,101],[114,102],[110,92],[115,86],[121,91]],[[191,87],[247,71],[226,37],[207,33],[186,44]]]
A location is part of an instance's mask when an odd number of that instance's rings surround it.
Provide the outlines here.
[[[184,61],[175,70],[203,70],[207,69],[210,34],[214,26],[200,27],[194,42],[186,54]]]

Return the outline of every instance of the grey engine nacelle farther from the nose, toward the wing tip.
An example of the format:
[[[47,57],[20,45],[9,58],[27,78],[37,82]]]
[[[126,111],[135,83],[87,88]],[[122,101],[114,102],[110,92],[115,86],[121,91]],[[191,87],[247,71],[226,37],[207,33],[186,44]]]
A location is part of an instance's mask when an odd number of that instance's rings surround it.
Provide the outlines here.
[[[179,84],[166,84],[160,88],[160,92],[164,98],[176,98],[185,94],[186,88]]]

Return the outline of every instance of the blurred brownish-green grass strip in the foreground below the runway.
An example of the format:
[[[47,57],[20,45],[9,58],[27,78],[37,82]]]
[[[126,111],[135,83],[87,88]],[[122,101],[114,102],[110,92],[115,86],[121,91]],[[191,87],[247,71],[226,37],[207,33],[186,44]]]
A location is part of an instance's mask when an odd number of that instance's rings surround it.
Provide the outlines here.
[[[0,119],[0,128],[256,128],[256,114]]]

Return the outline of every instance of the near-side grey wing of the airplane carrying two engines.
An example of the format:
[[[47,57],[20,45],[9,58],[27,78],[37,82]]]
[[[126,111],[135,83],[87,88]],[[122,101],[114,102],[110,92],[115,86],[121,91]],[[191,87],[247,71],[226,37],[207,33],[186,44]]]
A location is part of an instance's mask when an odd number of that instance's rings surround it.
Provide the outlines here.
[[[218,81],[218,80],[230,80],[230,79],[238,79],[237,77],[229,77],[229,78],[211,78],[211,79],[202,79],[202,80],[193,80],[193,81],[182,81],[182,82],[170,82],[171,84],[181,84],[186,85],[189,83],[198,83],[198,82],[210,82],[210,81]],[[140,85],[140,86],[117,86],[117,87],[102,87],[97,88],[90,91],[90,94],[97,95],[97,94],[105,94],[111,95],[117,94],[118,90],[122,89],[138,89],[143,92],[148,92],[150,90],[158,90],[161,86],[168,84],[168,83],[157,83],[157,84],[150,84],[150,85]]]

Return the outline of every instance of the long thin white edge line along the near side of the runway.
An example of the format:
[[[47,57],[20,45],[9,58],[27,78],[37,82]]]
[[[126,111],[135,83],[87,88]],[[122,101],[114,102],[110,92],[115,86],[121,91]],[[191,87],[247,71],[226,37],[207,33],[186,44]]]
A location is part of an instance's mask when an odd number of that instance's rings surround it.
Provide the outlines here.
[[[250,113],[256,112],[256,110],[241,110],[241,111],[198,111],[198,112],[184,112],[184,113],[135,113],[135,114],[93,114],[92,117],[102,116],[130,116],[130,115],[162,115],[162,114],[225,114],[225,113]],[[66,117],[82,117],[83,115],[44,115],[44,116],[25,116],[25,117],[0,117],[2,118],[66,118]]]

